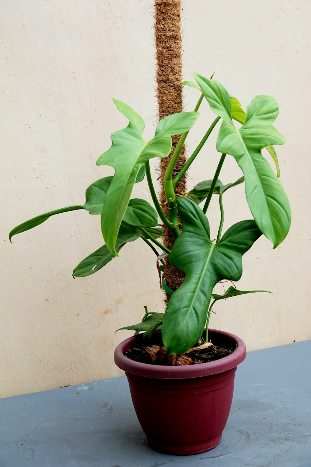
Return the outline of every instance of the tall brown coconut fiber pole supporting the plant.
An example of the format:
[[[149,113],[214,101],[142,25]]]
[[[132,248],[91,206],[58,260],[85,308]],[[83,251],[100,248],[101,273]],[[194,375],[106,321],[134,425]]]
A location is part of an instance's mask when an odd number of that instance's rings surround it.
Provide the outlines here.
[[[182,86],[181,86],[181,24],[180,0],[155,0],[155,40],[157,55],[157,99],[159,106],[159,120],[171,113],[182,112]],[[180,139],[173,136],[171,154],[160,160],[160,204],[168,217],[168,208],[163,186],[163,178],[167,165],[174,149]],[[173,177],[175,177],[186,162],[185,148],[180,151]],[[175,187],[176,195],[186,192],[186,177],[182,177]],[[179,219],[180,220],[180,219]],[[170,230],[164,226],[164,245],[172,249],[174,238]],[[180,287],[184,274],[180,269],[173,267],[167,260],[165,264],[164,280],[172,290]],[[166,301],[169,295],[166,294]]]

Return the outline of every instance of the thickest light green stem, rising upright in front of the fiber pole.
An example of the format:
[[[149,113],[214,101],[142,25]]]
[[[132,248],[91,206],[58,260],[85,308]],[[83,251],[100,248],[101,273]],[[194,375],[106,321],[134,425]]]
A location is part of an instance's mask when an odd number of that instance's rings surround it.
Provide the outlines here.
[[[204,95],[202,92],[202,94],[200,95],[200,99],[198,100],[196,106],[194,107],[194,112],[198,111],[200,104],[203,100],[203,97]],[[175,239],[180,235],[180,228],[178,226],[177,203],[176,203],[176,195],[174,192],[175,185],[173,185],[173,170],[176,165],[177,159],[180,155],[181,148],[183,147],[184,142],[187,138],[188,133],[189,133],[189,130],[185,131],[185,133],[183,133],[180,136],[180,140],[177,143],[177,146],[173,152],[170,162],[168,163],[165,176],[164,176],[164,180],[163,180],[165,197],[168,203],[168,220],[173,225],[172,227],[170,227],[170,229]]]

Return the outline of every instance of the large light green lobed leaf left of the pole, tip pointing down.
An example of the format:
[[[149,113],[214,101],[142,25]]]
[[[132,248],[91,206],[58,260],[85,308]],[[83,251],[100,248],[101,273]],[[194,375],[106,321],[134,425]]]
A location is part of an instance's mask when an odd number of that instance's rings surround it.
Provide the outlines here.
[[[172,148],[171,135],[192,128],[199,114],[181,112],[169,115],[159,121],[154,138],[146,142],[142,136],[145,124],[140,115],[119,100],[114,99],[114,103],[129,124],[111,135],[111,148],[99,157],[97,165],[110,165],[115,169],[106,193],[101,227],[107,247],[117,255],[117,233],[140,168],[152,157],[168,156]]]

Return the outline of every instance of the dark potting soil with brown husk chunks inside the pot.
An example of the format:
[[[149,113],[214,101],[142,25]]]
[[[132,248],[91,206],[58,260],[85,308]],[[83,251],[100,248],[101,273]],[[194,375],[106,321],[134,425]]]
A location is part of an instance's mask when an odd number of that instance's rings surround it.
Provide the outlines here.
[[[199,345],[198,343],[194,347]],[[217,342],[217,346],[193,350],[187,354],[166,355],[160,333],[153,334],[149,339],[144,338],[144,334],[138,334],[137,344],[124,352],[124,355],[133,361],[152,365],[196,365],[227,357],[236,348],[230,346],[231,343],[228,342]]]

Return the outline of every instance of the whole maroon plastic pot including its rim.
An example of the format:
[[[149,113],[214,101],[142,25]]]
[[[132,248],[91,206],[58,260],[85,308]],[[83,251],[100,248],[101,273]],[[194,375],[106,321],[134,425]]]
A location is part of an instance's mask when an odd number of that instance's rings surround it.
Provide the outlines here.
[[[232,403],[235,370],[246,357],[234,334],[210,329],[214,345],[235,347],[227,357],[189,366],[138,363],[124,356],[136,337],[121,342],[115,363],[125,371],[133,405],[149,445],[160,453],[190,455],[221,441]]]

